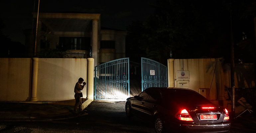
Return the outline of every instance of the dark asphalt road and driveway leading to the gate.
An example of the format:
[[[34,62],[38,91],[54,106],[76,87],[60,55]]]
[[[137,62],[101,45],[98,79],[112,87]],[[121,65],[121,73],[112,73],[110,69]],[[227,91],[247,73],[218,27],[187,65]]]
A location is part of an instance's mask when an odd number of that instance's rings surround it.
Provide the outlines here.
[[[125,102],[93,101],[88,115],[53,121],[0,122],[0,132],[10,133],[154,133],[153,125],[137,117],[125,115]],[[231,128],[231,133],[255,132]]]

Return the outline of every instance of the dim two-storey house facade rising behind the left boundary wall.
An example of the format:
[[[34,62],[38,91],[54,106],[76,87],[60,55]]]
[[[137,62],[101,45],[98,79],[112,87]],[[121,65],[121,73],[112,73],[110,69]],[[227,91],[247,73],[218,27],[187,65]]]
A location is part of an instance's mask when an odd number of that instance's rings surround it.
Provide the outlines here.
[[[26,34],[26,48],[34,50],[58,49],[65,58],[94,58],[94,66],[125,57],[126,31],[101,28],[100,14],[39,13],[37,39],[33,32]],[[37,13],[33,13],[37,19]],[[36,26],[34,26],[36,27]],[[36,40],[28,41],[28,40]]]

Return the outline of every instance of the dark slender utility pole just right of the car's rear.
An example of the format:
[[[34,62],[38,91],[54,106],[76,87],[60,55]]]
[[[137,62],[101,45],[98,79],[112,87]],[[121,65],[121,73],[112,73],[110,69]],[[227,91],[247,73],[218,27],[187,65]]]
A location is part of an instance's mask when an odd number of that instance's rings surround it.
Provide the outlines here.
[[[234,63],[234,40],[233,40],[233,27],[232,27],[232,4],[229,3],[230,11],[230,39],[231,39],[231,52],[230,52],[230,85],[232,89],[231,95],[231,119],[235,117],[235,63]]]

